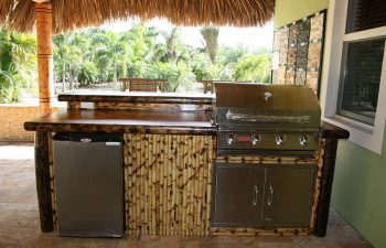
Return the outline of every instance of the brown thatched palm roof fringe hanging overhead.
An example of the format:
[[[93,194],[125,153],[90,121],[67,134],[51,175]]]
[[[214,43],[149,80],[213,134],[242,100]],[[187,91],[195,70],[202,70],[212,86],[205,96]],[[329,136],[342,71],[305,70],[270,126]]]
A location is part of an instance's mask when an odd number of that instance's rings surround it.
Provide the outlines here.
[[[30,32],[36,2],[0,0],[0,25]],[[53,32],[100,25],[106,21],[139,17],[165,18],[176,25],[262,25],[274,15],[275,0],[51,0]]]

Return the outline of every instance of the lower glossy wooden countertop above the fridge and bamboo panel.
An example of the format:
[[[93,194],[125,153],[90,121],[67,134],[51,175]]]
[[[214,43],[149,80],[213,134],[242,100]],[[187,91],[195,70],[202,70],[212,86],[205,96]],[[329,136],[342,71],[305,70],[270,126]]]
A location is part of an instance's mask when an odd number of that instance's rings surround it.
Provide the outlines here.
[[[61,110],[24,123],[28,131],[216,134],[205,112]]]

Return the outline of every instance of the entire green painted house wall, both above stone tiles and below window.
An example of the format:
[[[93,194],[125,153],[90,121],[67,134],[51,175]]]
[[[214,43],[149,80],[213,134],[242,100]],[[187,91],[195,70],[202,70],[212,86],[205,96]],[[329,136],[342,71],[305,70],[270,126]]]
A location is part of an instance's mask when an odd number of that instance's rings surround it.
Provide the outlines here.
[[[329,0],[276,0],[275,28],[328,6]],[[339,142],[331,204],[374,247],[386,247],[386,133],[382,155]]]

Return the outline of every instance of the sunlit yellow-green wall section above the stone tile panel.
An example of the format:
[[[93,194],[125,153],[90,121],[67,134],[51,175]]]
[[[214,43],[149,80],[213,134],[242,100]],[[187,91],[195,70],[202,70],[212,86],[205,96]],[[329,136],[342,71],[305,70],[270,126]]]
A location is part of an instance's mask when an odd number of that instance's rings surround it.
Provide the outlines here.
[[[280,28],[329,7],[329,0],[276,0],[275,28]]]

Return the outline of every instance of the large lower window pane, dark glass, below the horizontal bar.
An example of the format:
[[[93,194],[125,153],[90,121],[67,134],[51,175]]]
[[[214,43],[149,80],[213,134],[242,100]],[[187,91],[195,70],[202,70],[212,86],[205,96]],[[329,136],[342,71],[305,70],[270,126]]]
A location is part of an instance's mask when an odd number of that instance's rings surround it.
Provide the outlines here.
[[[337,114],[374,126],[385,39],[344,44]]]

